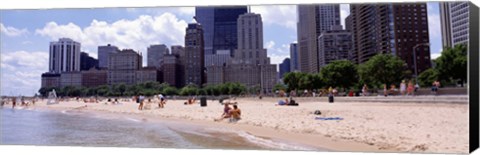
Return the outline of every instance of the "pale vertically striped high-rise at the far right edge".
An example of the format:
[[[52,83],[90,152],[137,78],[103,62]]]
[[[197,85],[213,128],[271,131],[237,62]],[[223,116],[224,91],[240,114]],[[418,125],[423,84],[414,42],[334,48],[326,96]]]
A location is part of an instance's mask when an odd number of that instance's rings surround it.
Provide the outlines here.
[[[469,2],[440,2],[443,47],[468,45]]]

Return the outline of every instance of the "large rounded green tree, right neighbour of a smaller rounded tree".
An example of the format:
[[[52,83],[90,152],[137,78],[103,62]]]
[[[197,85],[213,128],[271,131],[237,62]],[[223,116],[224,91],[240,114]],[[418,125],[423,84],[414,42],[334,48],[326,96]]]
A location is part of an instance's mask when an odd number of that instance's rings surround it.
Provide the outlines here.
[[[404,77],[405,62],[391,54],[377,54],[359,65],[358,75],[361,83],[370,86],[394,84]]]

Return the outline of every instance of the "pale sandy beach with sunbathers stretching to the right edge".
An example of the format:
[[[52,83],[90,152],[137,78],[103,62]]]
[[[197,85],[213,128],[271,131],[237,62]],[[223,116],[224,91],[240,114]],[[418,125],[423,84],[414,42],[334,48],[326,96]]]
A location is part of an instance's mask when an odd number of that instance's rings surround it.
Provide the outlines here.
[[[222,114],[218,100],[208,106],[184,105],[185,100],[168,100],[165,108],[138,110],[134,102],[120,105],[66,101],[31,108],[85,110],[134,115],[144,120],[169,120],[209,127],[225,127],[250,134],[289,140],[332,151],[468,153],[468,104],[445,103],[327,103],[326,98],[299,99],[300,106],[275,106],[281,98],[238,98],[242,120],[215,122]],[[198,103],[198,102],[197,102]],[[87,105],[85,107],[85,105]],[[313,112],[320,110],[321,115]],[[318,120],[340,117],[342,120]]]

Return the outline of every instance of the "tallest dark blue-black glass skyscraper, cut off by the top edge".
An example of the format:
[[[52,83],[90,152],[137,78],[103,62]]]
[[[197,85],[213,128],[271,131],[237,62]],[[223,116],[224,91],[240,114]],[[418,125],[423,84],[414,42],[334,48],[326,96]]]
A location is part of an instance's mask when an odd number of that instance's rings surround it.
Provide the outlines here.
[[[237,49],[237,19],[248,12],[247,6],[196,7],[195,19],[204,29],[205,54]]]

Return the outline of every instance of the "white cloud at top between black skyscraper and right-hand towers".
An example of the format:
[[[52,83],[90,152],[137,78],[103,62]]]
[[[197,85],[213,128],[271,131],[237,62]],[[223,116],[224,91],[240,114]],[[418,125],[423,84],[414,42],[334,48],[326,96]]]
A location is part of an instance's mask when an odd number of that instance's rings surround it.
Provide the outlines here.
[[[297,7],[296,5],[263,5],[251,6],[251,11],[261,14],[263,23],[266,25],[280,25],[296,30]]]

